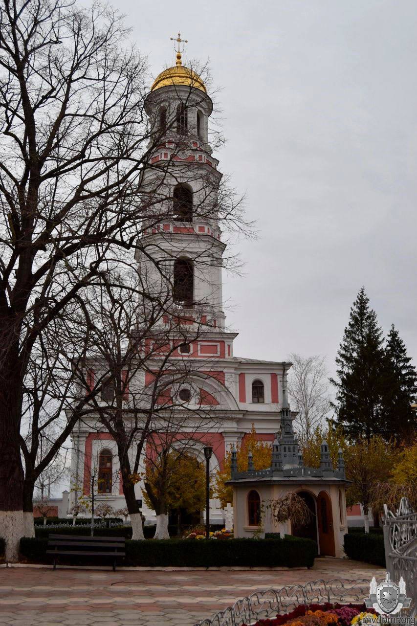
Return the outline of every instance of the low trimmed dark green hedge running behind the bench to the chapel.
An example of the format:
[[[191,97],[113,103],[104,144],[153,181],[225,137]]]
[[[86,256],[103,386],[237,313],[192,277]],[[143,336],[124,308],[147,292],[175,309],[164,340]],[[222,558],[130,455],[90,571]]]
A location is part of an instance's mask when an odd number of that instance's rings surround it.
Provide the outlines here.
[[[31,561],[50,563],[46,555],[46,537],[23,538],[22,557]],[[144,567],[312,567],[316,543],[310,539],[228,539],[126,541],[125,565]],[[68,559],[68,557],[67,557]],[[66,560],[68,563],[68,560]],[[71,563],[88,563],[71,559]]]

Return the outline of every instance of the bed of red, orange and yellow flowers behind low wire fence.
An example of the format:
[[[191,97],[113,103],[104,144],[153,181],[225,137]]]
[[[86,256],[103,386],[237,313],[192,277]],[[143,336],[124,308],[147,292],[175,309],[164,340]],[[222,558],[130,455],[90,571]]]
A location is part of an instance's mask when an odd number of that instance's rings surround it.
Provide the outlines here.
[[[376,612],[365,604],[309,604],[294,608],[291,613],[259,620],[255,626],[361,626],[372,624]],[[244,624],[243,626],[247,626]]]

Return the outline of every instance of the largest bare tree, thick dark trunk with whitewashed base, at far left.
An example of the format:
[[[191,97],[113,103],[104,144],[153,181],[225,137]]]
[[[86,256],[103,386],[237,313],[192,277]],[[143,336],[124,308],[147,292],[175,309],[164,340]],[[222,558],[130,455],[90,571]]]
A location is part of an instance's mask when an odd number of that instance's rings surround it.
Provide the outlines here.
[[[51,357],[54,334],[68,331],[73,340],[66,318],[82,310],[88,287],[121,261],[122,251],[151,258],[144,235],[172,213],[165,178],[183,141],[177,136],[168,160],[152,163],[176,118],[168,115],[158,128],[148,121],[145,59],[125,46],[126,34],[121,17],[98,3],[0,3],[0,533],[8,560],[18,556],[34,474],[53,460],[85,407],[85,398],[71,405],[68,423],[33,473],[39,428],[26,451],[20,434],[31,368],[45,354],[43,344]],[[199,176],[201,210],[239,228],[239,202],[221,186],[219,192],[219,177]],[[158,258],[153,268],[161,272]],[[43,403],[43,391],[36,395]],[[54,416],[61,419],[62,411]]]

